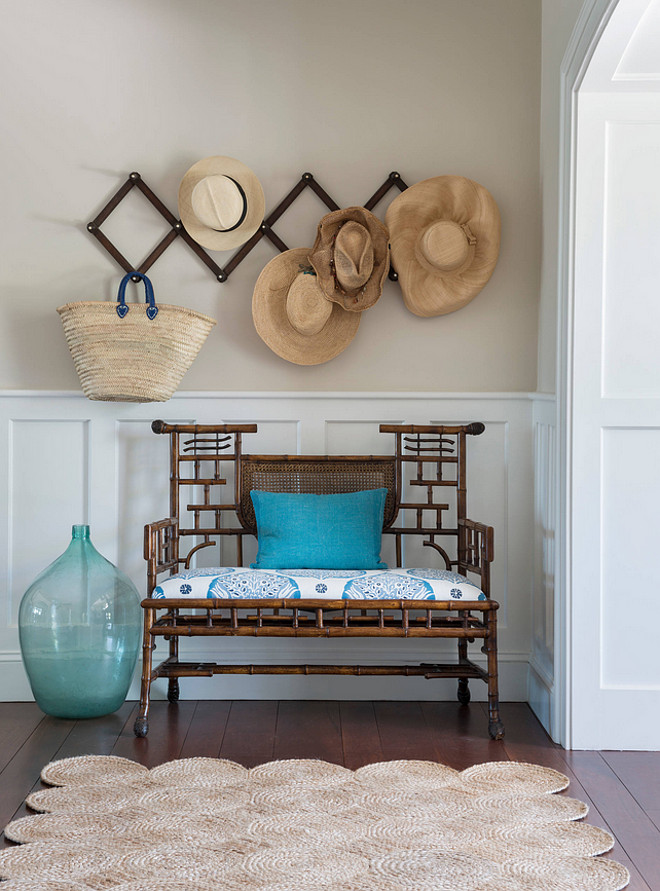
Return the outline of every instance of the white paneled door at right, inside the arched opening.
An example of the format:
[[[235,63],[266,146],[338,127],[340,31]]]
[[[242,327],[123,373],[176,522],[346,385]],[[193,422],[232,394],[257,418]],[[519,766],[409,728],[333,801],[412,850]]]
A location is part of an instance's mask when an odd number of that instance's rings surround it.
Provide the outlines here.
[[[569,538],[573,748],[660,748],[660,95],[580,93]]]

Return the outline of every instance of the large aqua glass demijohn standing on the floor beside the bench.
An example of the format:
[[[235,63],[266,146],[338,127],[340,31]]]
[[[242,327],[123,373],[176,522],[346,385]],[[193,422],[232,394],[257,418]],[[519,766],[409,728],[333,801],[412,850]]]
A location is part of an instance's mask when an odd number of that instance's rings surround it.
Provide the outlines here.
[[[96,718],[124,702],[140,642],[140,595],[102,557],[89,526],[27,589],[18,628],[37,704],[58,718]]]

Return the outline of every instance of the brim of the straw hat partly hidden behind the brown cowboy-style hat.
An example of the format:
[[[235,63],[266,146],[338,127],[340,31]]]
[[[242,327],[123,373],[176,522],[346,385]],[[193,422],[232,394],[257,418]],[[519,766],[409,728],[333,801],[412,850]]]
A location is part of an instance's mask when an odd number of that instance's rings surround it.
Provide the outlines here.
[[[274,257],[261,271],[252,297],[252,318],[257,334],[280,358],[295,365],[320,365],[338,356],[355,337],[359,313],[345,312],[336,303],[318,334],[297,331],[286,312],[289,288],[309,264],[309,248],[294,248]]]

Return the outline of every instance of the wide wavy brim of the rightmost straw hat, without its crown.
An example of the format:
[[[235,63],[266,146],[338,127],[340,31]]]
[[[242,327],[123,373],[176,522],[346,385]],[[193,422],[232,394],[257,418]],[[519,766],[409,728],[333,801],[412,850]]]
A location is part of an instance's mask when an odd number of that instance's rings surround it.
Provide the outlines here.
[[[457,272],[431,271],[420,263],[421,232],[438,220],[467,224],[476,238],[470,265]],[[488,282],[499,256],[500,214],[488,189],[464,176],[436,176],[416,183],[387,208],[392,263],[407,308],[430,317],[455,312]]]

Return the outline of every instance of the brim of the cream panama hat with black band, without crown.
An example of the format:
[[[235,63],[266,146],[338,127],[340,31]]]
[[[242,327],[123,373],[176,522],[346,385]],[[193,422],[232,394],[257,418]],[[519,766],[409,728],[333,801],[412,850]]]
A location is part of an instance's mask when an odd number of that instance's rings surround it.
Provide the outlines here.
[[[207,176],[229,176],[245,193],[247,212],[243,222],[229,232],[218,232],[201,223],[192,208],[192,193],[198,182]],[[214,155],[203,158],[188,170],[179,186],[179,216],[191,238],[210,251],[230,251],[245,244],[263,222],[266,210],[264,190],[256,175],[236,158]]]

